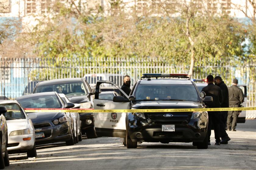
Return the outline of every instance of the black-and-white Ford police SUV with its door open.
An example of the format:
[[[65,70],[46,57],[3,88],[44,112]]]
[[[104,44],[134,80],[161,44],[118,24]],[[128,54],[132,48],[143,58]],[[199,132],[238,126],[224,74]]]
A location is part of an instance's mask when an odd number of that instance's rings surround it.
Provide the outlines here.
[[[117,88],[123,96],[101,98],[100,87]],[[128,97],[115,83],[99,80],[96,84],[94,109],[178,109],[205,108],[212,97],[199,93],[187,74],[143,74]],[[99,136],[124,138],[127,148],[137,142],[193,142],[207,149],[208,113],[147,112],[95,113],[95,129]]]

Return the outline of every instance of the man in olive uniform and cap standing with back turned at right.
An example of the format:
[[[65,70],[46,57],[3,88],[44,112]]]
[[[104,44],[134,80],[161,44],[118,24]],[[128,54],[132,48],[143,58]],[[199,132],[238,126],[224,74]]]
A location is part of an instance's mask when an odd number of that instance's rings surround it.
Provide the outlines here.
[[[244,102],[243,90],[237,87],[238,80],[233,80],[233,85],[229,87],[229,107],[241,107]],[[236,121],[239,111],[228,111],[227,130],[236,131]]]

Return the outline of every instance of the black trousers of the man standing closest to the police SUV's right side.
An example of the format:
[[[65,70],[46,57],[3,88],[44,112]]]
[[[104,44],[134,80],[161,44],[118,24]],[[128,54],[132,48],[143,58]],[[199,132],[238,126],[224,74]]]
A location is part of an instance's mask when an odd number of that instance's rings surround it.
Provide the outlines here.
[[[211,127],[214,127],[215,141],[220,142],[220,130],[219,130],[219,112],[208,111],[209,124],[208,124],[208,142],[210,142]]]

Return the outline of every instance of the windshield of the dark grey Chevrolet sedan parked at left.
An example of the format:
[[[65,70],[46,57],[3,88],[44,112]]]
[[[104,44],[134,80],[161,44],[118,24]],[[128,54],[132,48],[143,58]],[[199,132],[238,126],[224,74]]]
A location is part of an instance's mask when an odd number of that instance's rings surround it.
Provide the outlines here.
[[[56,95],[30,97],[18,101],[23,108],[61,108]]]

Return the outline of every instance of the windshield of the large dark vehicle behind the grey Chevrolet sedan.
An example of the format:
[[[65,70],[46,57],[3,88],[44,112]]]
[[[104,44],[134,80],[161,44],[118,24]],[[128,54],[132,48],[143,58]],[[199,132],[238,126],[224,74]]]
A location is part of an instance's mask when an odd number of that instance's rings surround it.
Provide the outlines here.
[[[36,87],[35,93],[51,92],[56,91],[57,93],[63,93],[66,96],[84,96],[87,95],[84,84],[82,81],[70,82],[70,83],[59,83],[52,85],[40,85]]]

